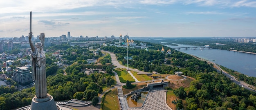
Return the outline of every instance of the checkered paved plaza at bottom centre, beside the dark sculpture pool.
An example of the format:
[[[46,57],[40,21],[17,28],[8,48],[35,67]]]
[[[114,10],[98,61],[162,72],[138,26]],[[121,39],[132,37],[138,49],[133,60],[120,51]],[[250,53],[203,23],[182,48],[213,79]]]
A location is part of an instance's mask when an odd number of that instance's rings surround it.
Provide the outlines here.
[[[148,97],[141,108],[128,108],[128,110],[172,110],[166,104],[166,90],[153,88],[148,92]]]

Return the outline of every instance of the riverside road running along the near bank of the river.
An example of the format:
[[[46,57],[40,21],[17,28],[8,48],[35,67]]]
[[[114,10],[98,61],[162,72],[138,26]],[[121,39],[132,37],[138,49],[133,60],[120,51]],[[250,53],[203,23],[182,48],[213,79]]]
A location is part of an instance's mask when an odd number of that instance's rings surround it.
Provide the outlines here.
[[[193,56],[193,55],[191,55],[191,56]],[[241,86],[241,87],[243,87],[247,90],[252,90],[252,91],[256,92],[256,90],[249,87],[249,86],[254,87],[253,85],[249,85],[249,84],[245,83],[244,81],[238,81],[234,76],[232,76],[232,75],[228,74],[227,72],[225,72],[224,70],[222,70],[216,63],[213,63],[211,61],[207,61],[207,60],[202,59],[202,58],[198,58],[196,56],[193,56],[193,57],[195,57],[195,58],[197,58],[201,61],[206,61],[208,63],[213,64],[215,67],[217,67],[216,68],[217,70],[220,70],[223,74],[225,74],[228,78],[230,78],[234,83],[238,84],[239,86]]]

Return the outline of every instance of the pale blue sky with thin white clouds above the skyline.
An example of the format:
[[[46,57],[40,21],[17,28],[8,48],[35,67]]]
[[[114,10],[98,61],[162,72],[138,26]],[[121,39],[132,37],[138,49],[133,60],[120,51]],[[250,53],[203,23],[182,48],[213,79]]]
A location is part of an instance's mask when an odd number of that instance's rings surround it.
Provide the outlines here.
[[[0,0],[0,37],[252,37],[255,0]]]

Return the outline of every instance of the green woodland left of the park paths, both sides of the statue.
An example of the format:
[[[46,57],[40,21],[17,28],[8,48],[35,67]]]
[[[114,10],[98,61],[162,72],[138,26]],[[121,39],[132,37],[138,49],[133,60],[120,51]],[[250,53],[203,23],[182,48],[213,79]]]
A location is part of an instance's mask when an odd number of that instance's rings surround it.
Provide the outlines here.
[[[46,53],[47,92],[54,97],[55,101],[73,98],[92,100],[95,96],[97,97],[98,93],[102,92],[102,87],[111,86],[115,83],[115,80],[111,78],[112,65],[101,66],[108,74],[95,72],[90,76],[86,76],[84,73],[81,73],[81,69],[94,66],[85,65],[87,64],[86,59],[99,58],[99,56],[95,56],[92,51],[86,48],[79,46],[71,47],[69,45],[54,45],[45,48],[45,50],[46,49],[49,49],[49,52]],[[66,68],[65,72],[67,75],[63,75],[63,69],[58,70],[58,66],[54,63],[59,61],[59,59],[53,57],[52,53],[58,50],[63,52],[63,58],[66,60],[65,63],[74,63]],[[76,54],[72,54],[72,52]],[[102,53],[99,53],[101,56]],[[29,59],[29,57],[25,58]],[[11,67],[14,69],[16,66],[21,65],[20,61],[15,61],[14,66]],[[11,79],[7,81],[12,83],[12,86],[10,88],[4,86],[0,87],[0,110],[10,110],[30,105],[32,98],[35,96],[35,88],[27,88],[16,92],[14,85],[18,84]],[[101,90],[99,88],[101,88]]]

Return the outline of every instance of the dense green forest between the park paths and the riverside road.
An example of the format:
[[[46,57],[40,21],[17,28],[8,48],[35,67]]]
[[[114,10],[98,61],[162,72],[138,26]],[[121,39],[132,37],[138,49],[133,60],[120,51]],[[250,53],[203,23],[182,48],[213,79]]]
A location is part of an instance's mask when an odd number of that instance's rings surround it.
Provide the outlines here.
[[[102,49],[114,52],[118,60],[126,64],[126,48],[112,46]],[[212,64],[182,52],[172,51],[171,55],[165,55],[156,49],[152,48],[148,52],[144,49],[130,49],[128,53],[132,60],[129,60],[129,65],[146,72],[157,71],[162,74],[182,71],[184,75],[195,78],[187,92],[182,88],[173,91],[177,97],[186,100],[187,110],[256,109],[256,93],[240,87],[224,74],[216,72]],[[164,58],[169,58],[172,66],[165,65]]]

